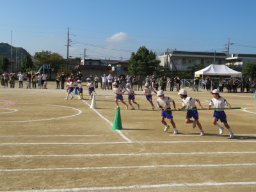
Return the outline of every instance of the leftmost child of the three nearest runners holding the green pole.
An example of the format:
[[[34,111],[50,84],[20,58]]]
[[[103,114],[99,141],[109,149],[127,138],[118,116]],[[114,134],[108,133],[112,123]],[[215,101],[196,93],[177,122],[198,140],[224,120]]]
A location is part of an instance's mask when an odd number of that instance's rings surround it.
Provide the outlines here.
[[[179,134],[175,122],[173,122],[173,116],[172,116],[172,111],[171,111],[171,104],[170,102],[172,102],[173,104],[173,110],[175,111],[175,102],[174,100],[172,100],[170,97],[164,96],[164,91],[163,90],[159,90],[157,92],[157,96],[159,97],[157,99],[157,106],[162,109],[161,112],[161,122],[162,124],[165,125],[164,128],[164,132],[168,131],[168,129],[170,129],[170,126],[166,123],[166,121],[164,120],[165,118],[170,120],[170,123],[172,124],[173,127],[173,134]]]

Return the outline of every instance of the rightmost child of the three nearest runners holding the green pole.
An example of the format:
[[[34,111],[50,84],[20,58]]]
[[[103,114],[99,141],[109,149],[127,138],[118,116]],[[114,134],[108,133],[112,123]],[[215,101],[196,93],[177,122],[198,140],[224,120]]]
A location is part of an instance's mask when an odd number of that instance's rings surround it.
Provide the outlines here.
[[[213,99],[211,100],[207,108],[208,110],[211,109],[211,106],[214,106],[214,108],[224,108],[225,106],[227,106],[228,109],[231,108],[227,100],[220,96],[219,90],[215,89],[211,93],[212,93]],[[221,125],[217,123],[218,120],[220,120],[220,122],[223,123],[225,127],[228,129],[229,138],[234,138],[234,133],[232,132],[231,127],[228,125],[227,115],[223,109],[214,110],[213,117],[212,117],[212,124],[216,125],[220,129],[220,134],[223,134],[223,127],[221,127]]]

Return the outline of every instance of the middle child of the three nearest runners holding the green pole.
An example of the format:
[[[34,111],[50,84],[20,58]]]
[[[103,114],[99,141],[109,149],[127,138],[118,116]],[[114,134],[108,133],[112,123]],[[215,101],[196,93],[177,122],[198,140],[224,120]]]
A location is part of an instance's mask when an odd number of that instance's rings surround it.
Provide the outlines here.
[[[180,95],[180,98],[182,99],[182,108],[180,109],[196,109],[196,104],[195,102],[198,102],[200,109],[204,109],[200,103],[200,101],[198,99],[194,99],[192,97],[188,97],[187,95],[187,90],[180,90],[180,92],[178,93],[178,95]],[[179,108],[177,109],[178,111],[180,110]],[[191,120],[191,118],[194,118],[195,120]],[[192,127],[193,129],[195,129],[196,125],[198,126],[198,128],[200,129],[200,135],[203,136],[204,135],[204,130],[202,129],[202,125],[199,122],[199,116],[198,116],[198,111],[197,110],[188,110],[187,111],[187,116],[186,116],[186,124],[193,124]]]

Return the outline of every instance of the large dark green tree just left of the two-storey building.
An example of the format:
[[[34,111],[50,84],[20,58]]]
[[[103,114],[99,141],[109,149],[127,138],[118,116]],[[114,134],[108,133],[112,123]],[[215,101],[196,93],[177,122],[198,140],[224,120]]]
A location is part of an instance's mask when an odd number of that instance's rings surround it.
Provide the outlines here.
[[[142,46],[136,53],[131,53],[129,74],[132,76],[153,74],[159,63],[160,61],[156,60],[156,53],[148,51],[145,46]]]

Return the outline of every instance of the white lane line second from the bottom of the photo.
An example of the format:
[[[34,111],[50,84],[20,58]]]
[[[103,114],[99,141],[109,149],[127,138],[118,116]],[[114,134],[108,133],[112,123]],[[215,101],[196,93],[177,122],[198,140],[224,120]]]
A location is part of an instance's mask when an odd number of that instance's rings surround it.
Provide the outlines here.
[[[67,167],[67,168],[34,168],[34,169],[0,169],[0,172],[37,172],[37,171],[59,171],[59,170],[120,170],[137,168],[186,168],[186,167],[219,167],[219,166],[256,166],[256,163],[235,164],[163,164],[163,165],[141,165],[141,166],[97,166],[97,167]]]

